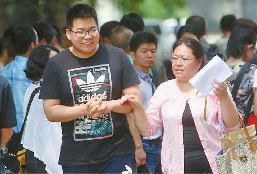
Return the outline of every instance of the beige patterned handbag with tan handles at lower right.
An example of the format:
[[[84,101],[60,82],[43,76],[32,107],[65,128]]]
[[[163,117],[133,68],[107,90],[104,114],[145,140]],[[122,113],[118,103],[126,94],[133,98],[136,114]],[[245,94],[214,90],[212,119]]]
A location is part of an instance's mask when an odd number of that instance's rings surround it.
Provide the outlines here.
[[[227,151],[221,149],[216,155],[215,160],[220,173],[257,173],[257,139],[252,138],[249,135],[248,130],[251,132],[250,126],[245,126],[242,118],[243,128],[232,131],[230,136],[227,134],[232,143],[226,139],[229,146]],[[237,133],[237,134],[236,134]],[[235,140],[234,137],[240,137],[240,140]],[[233,137],[233,138],[231,138]],[[243,137],[246,137],[246,141],[242,142]],[[238,143],[238,144],[237,144]]]

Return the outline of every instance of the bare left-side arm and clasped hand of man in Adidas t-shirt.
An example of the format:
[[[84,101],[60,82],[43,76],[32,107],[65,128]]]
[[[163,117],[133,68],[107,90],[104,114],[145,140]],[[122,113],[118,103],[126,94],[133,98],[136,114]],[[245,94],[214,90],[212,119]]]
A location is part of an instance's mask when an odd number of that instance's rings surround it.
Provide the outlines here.
[[[68,122],[80,116],[91,116],[92,113],[90,113],[88,106],[96,107],[101,104],[102,100],[98,97],[92,98],[86,104],[78,106],[61,105],[60,99],[43,99],[45,114],[47,119],[52,122]]]

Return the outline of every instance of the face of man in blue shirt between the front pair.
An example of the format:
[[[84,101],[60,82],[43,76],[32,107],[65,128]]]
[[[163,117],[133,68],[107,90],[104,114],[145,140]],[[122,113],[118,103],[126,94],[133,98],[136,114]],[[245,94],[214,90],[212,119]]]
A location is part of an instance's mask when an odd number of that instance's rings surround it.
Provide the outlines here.
[[[144,43],[139,46],[132,58],[134,60],[134,66],[141,71],[149,71],[153,66],[156,59],[156,46],[153,43]]]

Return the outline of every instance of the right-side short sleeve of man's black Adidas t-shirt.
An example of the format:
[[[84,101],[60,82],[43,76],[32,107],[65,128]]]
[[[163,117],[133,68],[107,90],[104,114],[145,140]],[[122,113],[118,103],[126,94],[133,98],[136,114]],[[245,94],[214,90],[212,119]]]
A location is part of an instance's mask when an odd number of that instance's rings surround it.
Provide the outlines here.
[[[122,52],[121,56],[122,56],[122,79],[123,79],[122,88],[124,90],[126,88],[129,88],[130,86],[139,84],[140,79],[137,76],[134,70],[134,67],[130,63],[129,58],[124,51]]]

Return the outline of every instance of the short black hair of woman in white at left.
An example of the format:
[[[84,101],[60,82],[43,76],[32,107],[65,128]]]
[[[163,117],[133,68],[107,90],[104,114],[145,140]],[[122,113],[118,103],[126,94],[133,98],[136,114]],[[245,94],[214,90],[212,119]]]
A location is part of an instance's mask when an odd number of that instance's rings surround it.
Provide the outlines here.
[[[59,52],[58,49],[50,45],[36,46],[32,50],[27,61],[27,67],[24,70],[28,79],[38,81],[42,78],[47,61],[49,60],[50,51]]]

